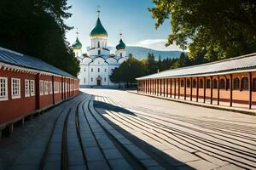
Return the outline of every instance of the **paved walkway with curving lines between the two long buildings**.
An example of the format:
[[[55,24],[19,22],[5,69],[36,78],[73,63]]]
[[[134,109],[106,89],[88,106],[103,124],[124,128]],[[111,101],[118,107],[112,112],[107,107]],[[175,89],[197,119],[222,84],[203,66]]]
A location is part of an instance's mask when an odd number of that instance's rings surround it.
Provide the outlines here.
[[[83,89],[0,142],[0,169],[256,169],[256,116]]]

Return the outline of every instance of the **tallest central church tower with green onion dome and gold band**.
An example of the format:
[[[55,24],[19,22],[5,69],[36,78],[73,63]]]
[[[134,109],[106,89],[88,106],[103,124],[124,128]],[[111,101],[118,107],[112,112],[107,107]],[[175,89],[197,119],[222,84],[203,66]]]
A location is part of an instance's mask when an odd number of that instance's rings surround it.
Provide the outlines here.
[[[105,56],[110,54],[107,46],[108,32],[102,26],[100,10],[97,13],[96,24],[90,31],[90,49],[88,50],[88,55]]]

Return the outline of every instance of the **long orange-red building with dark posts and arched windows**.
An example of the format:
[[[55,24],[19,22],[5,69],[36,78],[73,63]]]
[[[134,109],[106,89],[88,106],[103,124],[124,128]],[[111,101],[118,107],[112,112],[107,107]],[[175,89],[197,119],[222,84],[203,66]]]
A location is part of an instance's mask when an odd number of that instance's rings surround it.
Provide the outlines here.
[[[256,54],[137,78],[138,92],[211,105],[256,105]]]

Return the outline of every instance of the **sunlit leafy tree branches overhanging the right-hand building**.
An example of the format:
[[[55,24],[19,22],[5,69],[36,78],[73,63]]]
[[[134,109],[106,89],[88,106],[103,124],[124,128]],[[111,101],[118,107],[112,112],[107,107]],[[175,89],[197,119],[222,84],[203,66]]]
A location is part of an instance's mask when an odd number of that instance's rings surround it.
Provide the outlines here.
[[[189,48],[189,58],[205,51],[207,60],[256,51],[256,2],[252,0],[154,0],[155,26],[171,18],[166,46]]]

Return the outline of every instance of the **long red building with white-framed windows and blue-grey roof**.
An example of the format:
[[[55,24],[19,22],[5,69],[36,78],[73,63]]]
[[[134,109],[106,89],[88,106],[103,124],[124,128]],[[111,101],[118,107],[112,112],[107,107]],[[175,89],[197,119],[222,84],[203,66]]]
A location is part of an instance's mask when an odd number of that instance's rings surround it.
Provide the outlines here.
[[[79,94],[79,79],[44,61],[0,48],[0,136],[26,116]]]

